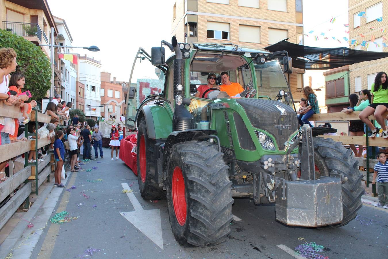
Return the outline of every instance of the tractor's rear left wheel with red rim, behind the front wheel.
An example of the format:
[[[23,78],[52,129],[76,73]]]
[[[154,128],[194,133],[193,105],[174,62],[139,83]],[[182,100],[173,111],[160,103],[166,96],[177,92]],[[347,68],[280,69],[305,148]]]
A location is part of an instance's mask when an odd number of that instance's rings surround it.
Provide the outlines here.
[[[162,199],[165,197],[163,188],[154,180],[155,176],[155,139],[148,137],[145,118],[140,119],[137,130],[137,179],[140,194],[145,200]]]

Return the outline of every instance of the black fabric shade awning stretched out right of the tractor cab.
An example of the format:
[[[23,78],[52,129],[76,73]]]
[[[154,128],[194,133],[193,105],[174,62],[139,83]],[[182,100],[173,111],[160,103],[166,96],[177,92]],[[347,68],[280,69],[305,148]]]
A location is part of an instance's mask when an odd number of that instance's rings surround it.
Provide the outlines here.
[[[270,52],[286,50],[288,56],[293,59],[294,68],[308,70],[327,70],[388,57],[388,52],[354,50],[346,47],[317,48],[294,44],[286,40],[282,40],[264,49]]]

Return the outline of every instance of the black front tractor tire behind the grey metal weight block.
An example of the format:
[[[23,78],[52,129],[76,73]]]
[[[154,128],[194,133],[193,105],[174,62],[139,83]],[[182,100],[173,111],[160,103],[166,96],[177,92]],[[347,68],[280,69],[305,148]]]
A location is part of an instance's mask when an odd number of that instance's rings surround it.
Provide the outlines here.
[[[348,177],[348,181],[342,184],[343,219],[340,224],[327,227],[338,228],[348,224],[357,216],[357,210],[362,207],[361,195],[364,188],[361,186],[362,174],[359,172],[357,161],[352,157],[352,151],[346,149],[341,142],[333,139],[314,137],[315,167],[319,169],[315,175],[329,176],[330,170],[337,171]]]

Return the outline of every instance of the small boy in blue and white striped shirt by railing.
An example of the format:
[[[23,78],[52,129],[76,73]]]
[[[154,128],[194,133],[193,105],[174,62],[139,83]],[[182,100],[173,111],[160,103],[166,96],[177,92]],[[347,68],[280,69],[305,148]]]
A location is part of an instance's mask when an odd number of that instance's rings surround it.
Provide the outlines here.
[[[377,177],[377,194],[379,195],[379,203],[374,204],[376,207],[388,209],[388,163],[385,153],[380,152],[377,156],[379,162],[374,166],[374,174],[372,184],[376,184]]]

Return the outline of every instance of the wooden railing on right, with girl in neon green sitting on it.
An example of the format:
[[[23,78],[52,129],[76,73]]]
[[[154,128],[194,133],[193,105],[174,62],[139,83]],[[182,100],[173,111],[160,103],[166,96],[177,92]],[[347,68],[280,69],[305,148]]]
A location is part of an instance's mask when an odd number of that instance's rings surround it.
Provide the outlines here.
[[[322,121],[322,122],[332,122],[332,121],[341,121],[341,120],[359,120],[359,114],[361,111],[354,111],[352,113],[320,113],[320,114],[314,114],[309,118],[309,120],[312,121]],[[386,118],[388,115],[388,112],[386,111],[383,114],[383,118]],[[373,115],[368,117],[370,120],[375,120],[375,117]],[[337,133],[338,134],[338,133]],[[324,138],[331,138],[334,141],[340,141],[343,144],[362,144],[363,146],[369,147],[388,147],[388,139],[384,139],[382,137],[374,137],[370,138],[367,136],[330,136],[330,135],[320,135],[320,137]],[[369,155],[371,156],[371,154]],[[372,183],[373,178],[373,168],[374,165],[378,162],[376,159],[370,159],[370,158],[356,158],[359,161],[359,166],[364,167],[365,171],[362,171],[364,174],[364,181],[366,186],[369,186],[369,183]],[[371,171],[371,172],[370,172]],[[372,193],[373,195],[376,195],[376,185],[372,185]]]

